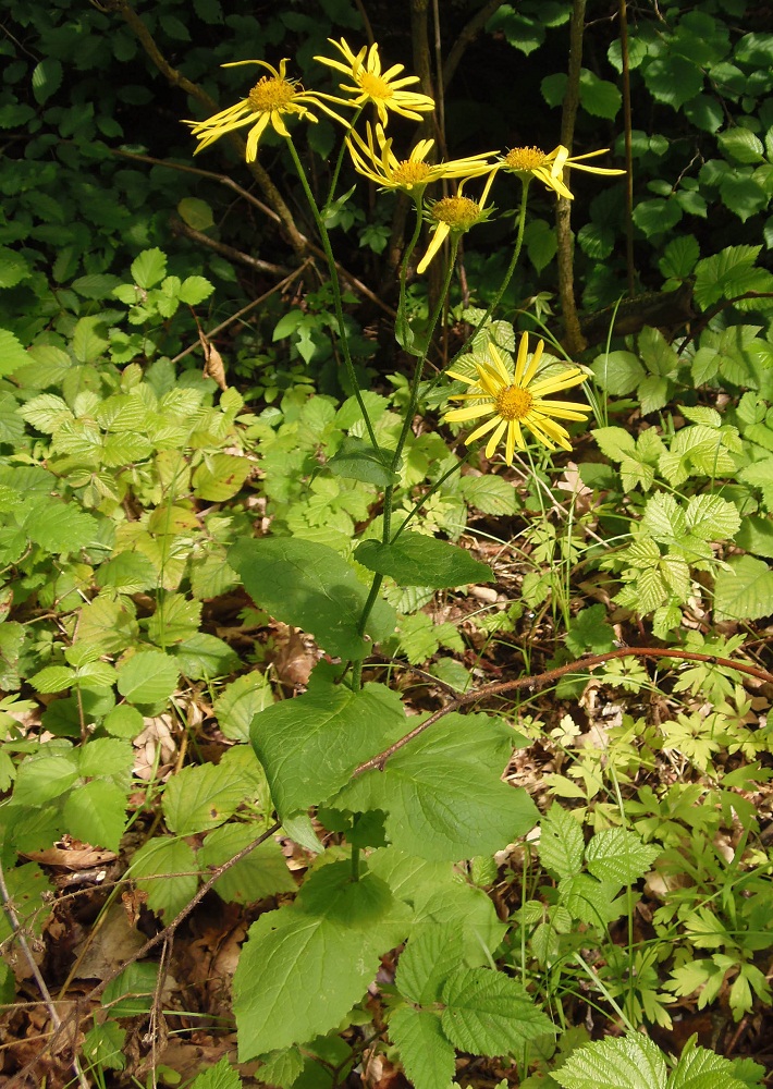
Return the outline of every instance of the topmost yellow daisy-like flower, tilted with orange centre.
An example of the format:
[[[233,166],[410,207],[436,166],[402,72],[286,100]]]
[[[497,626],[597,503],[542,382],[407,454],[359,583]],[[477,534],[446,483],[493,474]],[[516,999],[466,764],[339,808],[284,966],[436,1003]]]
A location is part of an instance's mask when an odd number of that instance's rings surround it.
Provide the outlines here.
[[[331,60],[330,57],[315,57],[315,60],[343,72],[352,81],[354,86],[340,84],[341,90],[354,96],[348,100],[349,106],[359,107],[372,102],[382,125],[387,124],[389,110],[400,113],[401,117],[410,118],[412,121],[420,121],[421,113],[434,109],[434,101],[428,95],[404,89],[419,82],[417,75],[395,78],[404,71],[404,64],[393,64],[385,72],[381,71],[381,58],[377,45],[372,45],[370,49],[363,46],[359,52],[355,53],[345,38],[340,41],[328,38],[328,41],[331,46],[335,46],[344,60]]]

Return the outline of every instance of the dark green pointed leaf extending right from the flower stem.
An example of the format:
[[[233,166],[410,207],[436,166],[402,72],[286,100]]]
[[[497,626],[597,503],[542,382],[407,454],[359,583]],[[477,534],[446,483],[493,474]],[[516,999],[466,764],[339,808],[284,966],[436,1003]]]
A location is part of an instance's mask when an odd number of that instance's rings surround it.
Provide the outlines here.
[[[355,559],[379,575],[389,575],[398,586],[430,586],[440,590],[469,583],[490,583],[491,568],[474,560],[465,549],[424,534],[404,533],[389,544],[363,541]]]

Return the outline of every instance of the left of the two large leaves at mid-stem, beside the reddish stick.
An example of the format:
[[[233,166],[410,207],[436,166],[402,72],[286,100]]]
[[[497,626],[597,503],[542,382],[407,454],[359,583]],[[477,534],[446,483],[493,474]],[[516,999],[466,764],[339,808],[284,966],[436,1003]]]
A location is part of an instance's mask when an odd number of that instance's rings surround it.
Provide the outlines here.
[[[251,742],[282,818],[344,786],[354,769],[407,733],[402,701],[384,685],[323,684],[266,708]]]

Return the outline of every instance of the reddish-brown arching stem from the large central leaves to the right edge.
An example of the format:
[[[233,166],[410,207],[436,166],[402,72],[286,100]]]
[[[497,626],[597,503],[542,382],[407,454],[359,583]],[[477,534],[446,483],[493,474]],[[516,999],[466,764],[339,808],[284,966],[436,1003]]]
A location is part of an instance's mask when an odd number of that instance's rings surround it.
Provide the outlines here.
[[[676,658],[679,661],[686,662],[711,662],[714,665],[720,665],[723,669],[736,670],[738,673],[746,673],[748,676],[757,677],[758,681],[769,681],[773,684],[773,673],[769,673],[768,670],[758,668],[757,665],[747,665],[745,662],[735,662],[731,658],[717,658],[715,654],[698,654],[692,653],[689,650],[661,650],[655,647],[624,647],[621,650],[610,650],[605,654],[592,654],[590,658],[578,658],[577,661],[569,662],[567,665],[559,665],[554,670],[548,670],[545,673],[537,673],[533,676],[518,677],[516,681],[495,681],[493,684],[483,685],[482,688],[477,688],[475,692],[467,693],[464,696],[457,696],[455,699],[450,700],[444,707],[441,707],[439,711],[430,714],[428,719],[420,722],[418,726],[407,733],[400,741],[396,741],[394,745],[390,745],[385,748],[383,752],[379,752],[378,756],[371,757],[370,760],[366,760],[365,763],[360,763],[358,768],[352,772],[352,778],[355,779],[357,775],[361,775],[365,771],[370,771],[376,769],[378,771],[384,770],[384,764],[391,756],[397,752],[400,749],[404,748],[408,742],[412,742],[414,737],[418,737],[422,734],[428,726],[431,726],[443,715],[451,713],[451,711],[457,711],[462,707],[467,707],[468,703],[475,703],[480,699],[484,699],[487,696],[500,696],[503,693],[515,692],[518,688],[544,688],[545,685],[551,684],[553,681],[557,681],[560,677],[564,676],[565,673],[573,673],[576,671],[592,670],[597,665],[602,665],[604,662],[612,661],[615,658]]]

